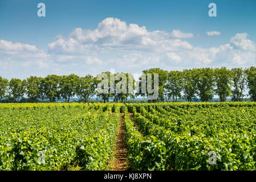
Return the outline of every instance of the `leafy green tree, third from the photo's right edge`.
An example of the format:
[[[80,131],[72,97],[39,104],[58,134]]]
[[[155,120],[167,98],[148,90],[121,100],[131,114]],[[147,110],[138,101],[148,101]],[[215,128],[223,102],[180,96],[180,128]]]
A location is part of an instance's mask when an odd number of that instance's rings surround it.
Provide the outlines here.
[[[221,102],[231,96],[231,71],[225,67],[214,69],[216,89],[215,93],[220,97]]]

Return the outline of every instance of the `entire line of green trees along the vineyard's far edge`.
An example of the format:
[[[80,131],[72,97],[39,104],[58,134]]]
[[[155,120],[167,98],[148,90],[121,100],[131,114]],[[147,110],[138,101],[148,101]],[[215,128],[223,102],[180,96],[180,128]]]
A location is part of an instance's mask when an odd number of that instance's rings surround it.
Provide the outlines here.
[[[110,72],[104,73],[108,75],[110,85]],[[225,102],[227,97],[231,97],[231,101],[243,101],[246,89],[248,89],[251,101],[256,101],[256,67],[245,69],[194,68],[169,72],[160,68],[151,68],[144,70],[143,73],[146,76],[148,73],[152,76],[154,73],[159,74],[159,97],[149,102],[162,102],[170,99],[177,102],[178,98],[192,102],[197,97],[202,102],[209,102],[214,95],[217,95],[221,102]],[[128,76],[131,73],[125,74]],[[119,81],[121,80],[115,80],[115,85]],[[135,93],[135,90],[133,93],[97,93],[99,82],[97,76],[92,75],[84,77],[74,74],[48,75],[44,78],[30,76],[25,80],[11,78],[10,81],[0,76],[0,98],[18,102],[26,95],[28,102],[46,99],[56,102],[61,98],[70,102],[70,99],[76,96],[80,101],[88,102],[92,97],[97,96],[103,102],[108,102],[110,99],[114,102],[124,102],[128,98],[149,96],[149,93]],[[111,89],[110,86],[109,89]]]

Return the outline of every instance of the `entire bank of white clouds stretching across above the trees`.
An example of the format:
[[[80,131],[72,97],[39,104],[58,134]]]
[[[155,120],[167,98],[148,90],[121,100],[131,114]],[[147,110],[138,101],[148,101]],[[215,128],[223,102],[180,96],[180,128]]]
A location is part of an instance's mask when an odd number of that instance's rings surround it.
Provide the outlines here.
[[[206,34],[216,36],[220,32]],[[204,48],[189,43],[195,38],[192,32],[148,31],[145,26],[106,18],[95,30],[75,28],[66,38],[56,36],[46,51],[29,44],[0,40],[0,70],[13,67],[16,73],[21,72],[16,70],[19,68],[29,75],[35,72],[44,76],[50,73],[95,75],[111,68],[141,72],[152,67],[248,67],[255,65],[256,46],[247,37],[245,32],[238,33],[226,44]]]

